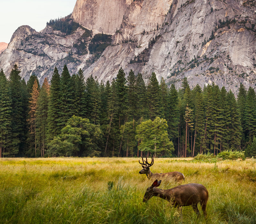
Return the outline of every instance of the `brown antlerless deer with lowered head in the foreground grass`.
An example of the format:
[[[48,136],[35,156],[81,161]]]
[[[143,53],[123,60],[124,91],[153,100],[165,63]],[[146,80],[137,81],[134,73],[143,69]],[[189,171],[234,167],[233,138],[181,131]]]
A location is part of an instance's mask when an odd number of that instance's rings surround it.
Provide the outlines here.
[[[143,202],[147,202],[152,196],[161,197],[171,202],[174,207],[180,207],[180,210],[182,206],[191,205],[198,216],[200,215],[200,212],[197,208],[197,204],[200,202],[204,217],[206,218],[208,191],[202,184],[184,184],[167,190],[156,188],[160,184],[161,180],[154,181],[154,183],[146,190]]]

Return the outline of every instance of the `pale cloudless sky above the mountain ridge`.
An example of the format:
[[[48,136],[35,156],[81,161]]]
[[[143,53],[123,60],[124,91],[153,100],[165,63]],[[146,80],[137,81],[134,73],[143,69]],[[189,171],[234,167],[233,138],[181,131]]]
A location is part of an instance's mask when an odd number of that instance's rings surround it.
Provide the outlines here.
[[[0,0],[0,42],[9,43],[14,31],[28,25],[37,32],[51,19],[73,12],[76,0]]]

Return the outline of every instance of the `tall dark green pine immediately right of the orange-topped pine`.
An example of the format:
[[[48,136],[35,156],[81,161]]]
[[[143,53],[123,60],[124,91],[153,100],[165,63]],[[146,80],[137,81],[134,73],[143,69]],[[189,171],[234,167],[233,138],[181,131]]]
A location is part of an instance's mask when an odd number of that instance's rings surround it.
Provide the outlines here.
[[[54,136],[60,134],[61,126],[61,108],[60,108],[60,75],[55,67],[49,94],[48,116],[47,116],[47,141],[51,141]]]

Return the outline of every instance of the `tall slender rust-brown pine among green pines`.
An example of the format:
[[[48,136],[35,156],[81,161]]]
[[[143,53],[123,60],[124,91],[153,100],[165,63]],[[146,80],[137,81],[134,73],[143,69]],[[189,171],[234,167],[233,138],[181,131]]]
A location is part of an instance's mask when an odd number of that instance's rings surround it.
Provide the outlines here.
[[[34,85],[32,87],[32,92],[30,93],[31,97],[29,99],[29,111],[28,111],[28,125],[30,135],[34,137],[34,148],[35,148],[35,156],[36,156],[36,107],[37,107],[37,99],[39,95],[39,88],[37,81],[34,81]]]

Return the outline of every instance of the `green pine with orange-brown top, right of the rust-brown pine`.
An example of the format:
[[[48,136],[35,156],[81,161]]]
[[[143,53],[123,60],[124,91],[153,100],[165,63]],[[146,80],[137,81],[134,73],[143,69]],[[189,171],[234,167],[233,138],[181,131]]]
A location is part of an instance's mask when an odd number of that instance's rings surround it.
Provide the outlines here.
[[[41,149],[41,157],[44,157],[46,150],[46,128],[48,116],[48,102],[50,95],[50,85],[47,78],[44,78],[44,83],[39,92],[36,109],[36,138],[39,148]]]

